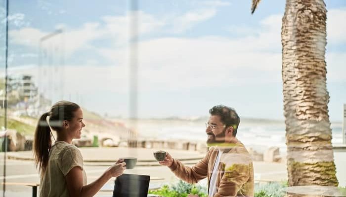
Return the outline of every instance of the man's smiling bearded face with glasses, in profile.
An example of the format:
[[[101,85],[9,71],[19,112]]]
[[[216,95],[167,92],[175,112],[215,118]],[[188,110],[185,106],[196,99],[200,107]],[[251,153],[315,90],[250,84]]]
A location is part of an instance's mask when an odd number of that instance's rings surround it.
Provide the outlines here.
[[[206,128],[206,133],[208,135],[207,144],[212,143],[224,143],[226,136],[226,128],[221,122],[221,117],[218,115],[211,115],[208,121],[209,125],[213,125]],[[214,127],[212,130],[211,127]]]

